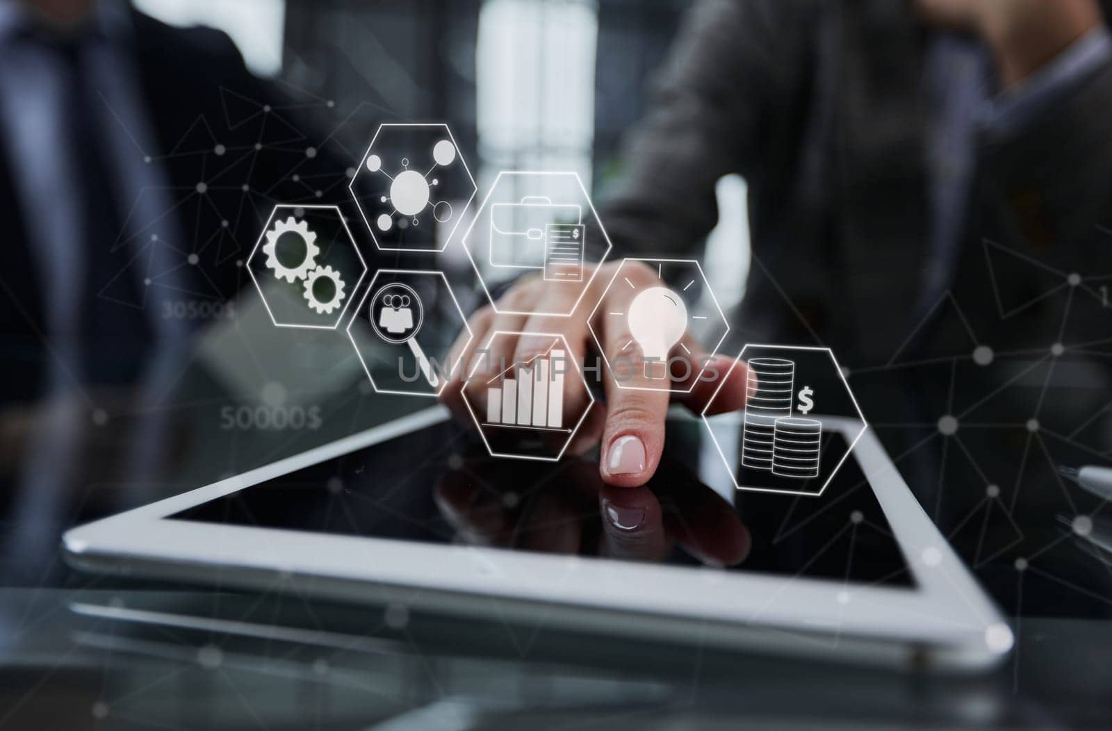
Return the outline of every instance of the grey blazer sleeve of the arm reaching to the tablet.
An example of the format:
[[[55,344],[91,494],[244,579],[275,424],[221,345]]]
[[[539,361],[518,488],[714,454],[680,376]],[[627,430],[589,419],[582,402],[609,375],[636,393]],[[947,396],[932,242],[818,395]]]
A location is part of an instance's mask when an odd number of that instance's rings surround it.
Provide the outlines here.
[[[755,174],[777,106],[796,96],[801,0],[701,0],[623,144],[622,180],[600,217],[615,254],[692,252],[714,228],[715,183]]]

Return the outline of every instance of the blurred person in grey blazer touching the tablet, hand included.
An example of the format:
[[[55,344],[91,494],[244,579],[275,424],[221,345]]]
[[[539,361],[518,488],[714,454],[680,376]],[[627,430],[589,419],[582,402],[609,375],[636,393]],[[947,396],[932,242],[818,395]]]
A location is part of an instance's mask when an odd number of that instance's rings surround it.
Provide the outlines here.
[[[628,136],[625,174],[600,217],[618,257],[689,257],[717,221],[716,182],[744,176],[754,267],[732,317],[739,342],[825,344],[851,368],[967,358],[969,320],[997,353],[1049,352],[1060,311],[997,312],[1044,291],[1045,271],[1005,264],[991,279],[982,241],[1056,270],[1112,270],[1109,242],[1094,237],[1112,186],[1112,41],[1096,0],[703,0],[656,99]],[[616,266],[595,279],[588,308]],[[940,307],[951,293],[957,317]],[[558,296],[536,279],[505,294],[518,311]],[[546,309],[562,309],[554,304]],[[536,326],[562,329],[584,352],[585,320],[487,308],[473,319],[470,348],[487,332]],[[1106,332],[1101,322],[1079,309],[1071,326]],[[612,361],[637,357],[624,327],[600,337]],[[532,347],[523,338],[494,360],[527,360]],[[1006,381],[995,378],[969,391]],[[663,449],[668,394],[606,385],[595,434],[603,478],[643,484]],[[937,395],[946,403],[945,389]],[[721,398],[741,405],[744,379]],[[870,415],[888,420],[894,401],[882,389]]]

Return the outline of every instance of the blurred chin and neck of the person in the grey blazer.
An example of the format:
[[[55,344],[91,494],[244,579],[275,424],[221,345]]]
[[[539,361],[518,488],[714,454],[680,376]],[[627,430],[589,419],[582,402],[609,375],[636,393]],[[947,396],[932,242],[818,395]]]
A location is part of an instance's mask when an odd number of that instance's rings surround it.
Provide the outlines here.
[[[915,0],[915,6],[930,24],[984,39],[1005,89],[1103,22],[1096,0]]]

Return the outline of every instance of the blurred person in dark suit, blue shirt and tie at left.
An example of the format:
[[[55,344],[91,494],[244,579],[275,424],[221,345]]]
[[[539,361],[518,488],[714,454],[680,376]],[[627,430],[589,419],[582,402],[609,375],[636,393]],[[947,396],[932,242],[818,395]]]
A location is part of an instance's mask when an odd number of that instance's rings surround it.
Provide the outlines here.
[[[139,397],[189,362],[203,319],[175,306],[220,311],[270,207],[321,202],[291,173],[345,174],[288,104],[222,32],[0,0],[0,575],[46,580],[85,488],[179,447]]]

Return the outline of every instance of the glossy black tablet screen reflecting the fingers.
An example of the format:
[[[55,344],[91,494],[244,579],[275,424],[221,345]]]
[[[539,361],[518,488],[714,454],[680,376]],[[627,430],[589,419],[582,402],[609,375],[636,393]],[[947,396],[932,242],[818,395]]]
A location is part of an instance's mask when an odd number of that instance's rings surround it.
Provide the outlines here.
[[[712,488],[701,468],[721,457],[701,430],[669,420],[656,477],[631,489],[602,483],[597,453],[494,459],[440,422],[170,519],[914,587],[852,457],[818,498]]]

